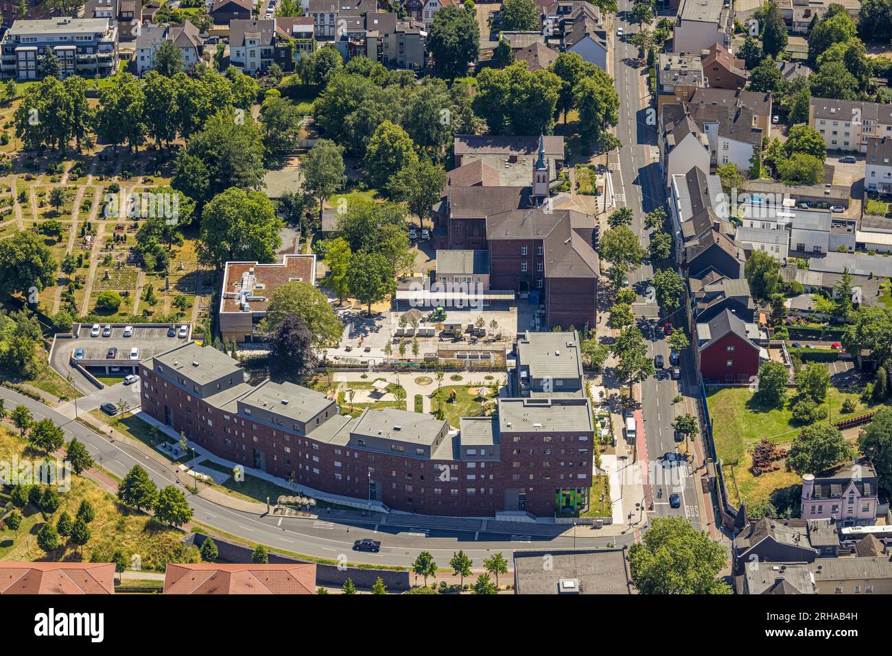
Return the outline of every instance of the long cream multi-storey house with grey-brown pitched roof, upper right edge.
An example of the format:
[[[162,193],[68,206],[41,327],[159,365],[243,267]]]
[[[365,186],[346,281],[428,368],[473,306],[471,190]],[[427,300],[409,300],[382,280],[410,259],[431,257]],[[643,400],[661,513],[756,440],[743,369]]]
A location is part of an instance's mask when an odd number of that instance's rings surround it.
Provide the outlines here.
[[[892,136],[892,105],[813,96],[808,124],[824,137],[828,151],[867,152],[871,136]]]

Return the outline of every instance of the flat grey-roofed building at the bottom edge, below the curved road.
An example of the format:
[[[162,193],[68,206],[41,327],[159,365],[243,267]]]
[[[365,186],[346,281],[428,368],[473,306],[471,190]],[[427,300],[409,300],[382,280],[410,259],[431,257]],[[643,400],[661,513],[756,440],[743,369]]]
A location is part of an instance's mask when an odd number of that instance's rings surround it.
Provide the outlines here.
[[[542,567],[542,562],[549,567]],[[635,594],[625,548],[514,552],[514,594]]]

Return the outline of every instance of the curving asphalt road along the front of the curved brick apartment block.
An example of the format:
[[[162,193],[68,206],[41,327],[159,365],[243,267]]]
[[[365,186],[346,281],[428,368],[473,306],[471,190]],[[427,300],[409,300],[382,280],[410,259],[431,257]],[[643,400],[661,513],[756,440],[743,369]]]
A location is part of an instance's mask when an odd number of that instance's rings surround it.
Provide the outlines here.
[[[123,478],[135,464],[141,464],[159,487],[181,484],[172,473],[140,450],[111,441],[88,429],[81,423],[69,419],[53,408],[24,397],[12,389],[0,388],[0,397],[5,399],[7,410],[15,406],[27,406],[35,421],[48,417],[62,426],[65,439],[77,437],[86,446],[90,455],[103,469]],[[604,547],[631,544],[634,532],[622,537],[599,537],[598,529],[577,527],[576,536],[538,537],[498,532],[475,532],[446,529],[416,529],[410,526],[346,524],[340,521],[258,516],[247,512],[235,512],[218,504],[213,504],[201,496],[186,490],[189,504],[194,509],[194,521],[200,521],[213,529],[242,537],[251,542],[267,545],[292,553],[305,553],[321,558],[347,562],[377,565],[409,565],[421,551],[434,554],[434,560],[446,566],[451,554],[464,549],[473,560],[475,567],[483,566],[483,559],[492,553],[501,552],[510,561],[515,549],[567,549]],[[417,518],[418,523],[423,520]],[[362,537],[373,537],[383,543],[380,553],[354,552],[353,541]],[[342,560],[343,560],[342,559]]]

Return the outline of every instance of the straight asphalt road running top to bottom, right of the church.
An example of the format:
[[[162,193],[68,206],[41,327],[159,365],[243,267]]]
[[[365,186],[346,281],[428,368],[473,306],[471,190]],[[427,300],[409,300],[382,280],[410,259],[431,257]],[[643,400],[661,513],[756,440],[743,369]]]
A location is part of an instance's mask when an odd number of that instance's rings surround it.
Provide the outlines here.
[[[649,234],[644,228],[644,215],[665,204],[665,185],[662,181],[659,162],[654,154],[657,146],[656,115],[649,110],[647,101],[647,66],[638,64],[638,49],[633,45],[620,41],[615,36],[615,29],[624,28],[626,37],[638,30],[637,25],[629,25],[623,21],[624,11],[632,8],[631,0],[620,0],[619,14],[614,21],[614,79],[615,88],[620,99],[619,121],[616,135],[624,144],[617,152],[609,156],[614,168],[614,188],[618,195],[617,206],[632,208],[632,230],[640,235],[640,243],[645,250],[649,247]],[[638,293],[638,300],[633,306],[636,322],[645,340],[648,341],[648,352],[651,357],[661,354],[665,365],[669,365],[669,347],[665,341],[662,326],[666,320],[660,314],[656,300],[653,300],[651,279],[654,268],[646,261],[644,265],[629,275],[632,289]],[[649,289],[648,289],[649,288]],[[648,300],[651,299],[651,300]],[[675,324],[684,322],[670,317]],[[642,414],[644,418],[644,435],[647,443],[647,459],[649,461],[650,483],[652,487],[653,513],[660,517],[681,515],[700,528],[698,491],[695,489],[696,479],[690,475],[690,465],[682,464],[681,468],[672,468],[657,461],[666,452],[675,452],[678,448],[673,437],[672,422],[676,415],[684,414],[684,403],[675,404],[673,398],[681,393],[684,396],[696,394],[696,377],[690,353],[681,357],[681,381],[671,380],[668,369],[656,377],[650,377],[641,383]],[[640,454],[644,457],[644,454]],[[678,494],[681,507],[672,508],[669,496]]]

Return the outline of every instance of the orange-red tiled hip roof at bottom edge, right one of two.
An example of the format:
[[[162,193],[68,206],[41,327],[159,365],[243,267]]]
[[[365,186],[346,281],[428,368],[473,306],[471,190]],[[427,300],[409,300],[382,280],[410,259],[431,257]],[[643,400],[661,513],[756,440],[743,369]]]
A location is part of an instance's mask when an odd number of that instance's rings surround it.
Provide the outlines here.
[[[316,563],[169,562],[163,594],[315,594]]]

